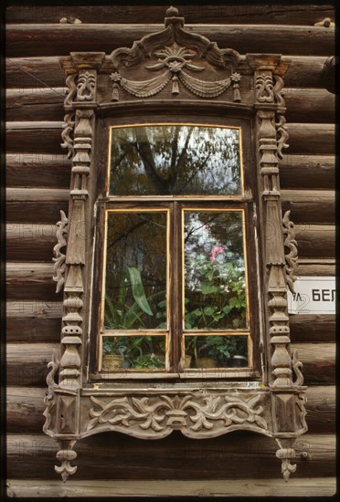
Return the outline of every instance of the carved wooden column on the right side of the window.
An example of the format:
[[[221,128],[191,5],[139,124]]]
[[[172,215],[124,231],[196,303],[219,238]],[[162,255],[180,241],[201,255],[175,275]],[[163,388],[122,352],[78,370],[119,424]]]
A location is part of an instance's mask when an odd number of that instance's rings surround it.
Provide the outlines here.
[[[285,257],[282,246],[282,206],[275,116],[277,105],[271,70],[256,69],[254,77],[258,110],[259,170],[265,224],[264,252],[267,267],[269,334],[272,347],[271,374],[274,379],[272,385],[281,387],[292,385],[292,360],[289,351],[290,329]],[[278,88],[280,86],[277,86]]]

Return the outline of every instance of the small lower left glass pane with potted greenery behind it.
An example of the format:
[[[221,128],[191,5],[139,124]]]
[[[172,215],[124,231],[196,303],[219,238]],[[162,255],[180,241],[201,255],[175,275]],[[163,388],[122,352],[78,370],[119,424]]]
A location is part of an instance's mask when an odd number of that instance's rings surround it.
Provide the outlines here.
[[[165,336],[103,337],[103,371],[164,370]]]

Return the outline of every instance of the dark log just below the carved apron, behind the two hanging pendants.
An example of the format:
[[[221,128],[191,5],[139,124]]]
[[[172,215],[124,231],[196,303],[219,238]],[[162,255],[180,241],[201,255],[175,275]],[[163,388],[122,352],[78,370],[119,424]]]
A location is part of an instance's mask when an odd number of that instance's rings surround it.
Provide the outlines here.
[[[50,479],[56,442],[44,434],[8,434],[7,476]],[[335,435],[304,434],[296,443],[300,479],[335,476]],[[231,433],[193,441],[175,432],[141,441],[118,433],[97,434],[75,445],[77,479],[246,479],[281,476],[277,444],[260,434]],[[307,452],[307,458],[301,458]],[[255,460],[255,461],[254,461]],[[293,478],[293,476],[292,476]],[[287,486],[282,479],[282,484]],[[289,485],[289,483],[288,483]]]

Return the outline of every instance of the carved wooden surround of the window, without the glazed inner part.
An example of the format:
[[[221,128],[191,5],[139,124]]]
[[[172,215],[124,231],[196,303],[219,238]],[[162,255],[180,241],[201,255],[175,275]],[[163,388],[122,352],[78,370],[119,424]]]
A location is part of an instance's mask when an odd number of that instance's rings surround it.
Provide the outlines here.
[[[73,447],[91,434],[118,431],[141,438],[161,438],[179,430],[191,438],[215,437],[234,430],[252,431],[275,439],[282,475],[296,465],[293,443],[307,430],[302,363],[290,348],[287,287],[292,288],[297,263],[296,241],[289,214],[282,221],[278,161],[288,147],[283,78],[289,62],[280,55],[248,54],[220,49],[206,37],[187,31],[175,8],[166,12],[165,29],[134,42],[132,48],[104,53],[71,53],[60,58],[67,78],[62,147],[72,161],[69,215],[61,214],[54,248],[54,280],[63,288],[60,354],[48,364],[44,432],[60,446],[56,471],[64,481],[73,475]],[[155,76],[151,76],[151,75]],[[137,76],[142,76],[138,77]],[[203,77],[205,76],[205,77]],[[169,92],[170,91],[170,92]],[[189,98],[188,98],[189,96]],[[143,380],[131,389],[111,388],[89,380],[86,359],[90,312],[87,246],[92,242],[87,218],[93,215],[90,183],[96,178],[92,151],[96,122],[114,115],[124,102],[145,105],[154,99],[172,104],[214,101],[224,116],[242,110],[256,130],[256,166],[261,197],[260,217],[267,298],[265,343],[270,346],[262,380],[197,381],[181,390],[168,382],[159,390]],[[181,100],[182,99],[182,100]],[[161,102],[161,101],[159,101]],[[130,106],[130,105],[129,105]],[[91,205],[92,204],[92,205]],[[274,235],[267,231],[274,229]],[[62,253],[61,249],[66,248]],[[285,249],[289,253],[285,255]],[[206,381],[207,382],[207,381]],[[119,387],[119,386],[118,386]]]

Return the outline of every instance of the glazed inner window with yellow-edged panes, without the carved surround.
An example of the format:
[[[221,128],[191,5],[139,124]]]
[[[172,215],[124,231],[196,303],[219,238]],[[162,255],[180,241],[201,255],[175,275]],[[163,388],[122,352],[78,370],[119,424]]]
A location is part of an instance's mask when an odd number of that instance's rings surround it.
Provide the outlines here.
[[[249,128],[166,122],[109,134],[94,287],[99,371],[254,376]]]

